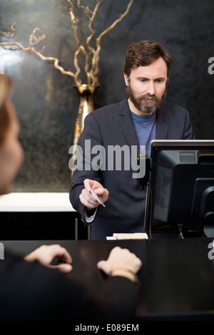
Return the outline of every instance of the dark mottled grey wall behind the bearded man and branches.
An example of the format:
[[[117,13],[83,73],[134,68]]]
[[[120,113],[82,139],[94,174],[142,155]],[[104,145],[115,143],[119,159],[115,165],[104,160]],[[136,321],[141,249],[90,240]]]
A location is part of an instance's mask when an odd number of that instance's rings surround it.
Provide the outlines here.
[[[89,7],[95,0],[86,1]],[[102,31],[124,11],[128,0],[105,0],[96,27]],[[135,0],[131,11],[102,40],[95,107],[126,97],[123,64],[129,43],[151,39],[163,43],[173,56],[166,100],[183,105],[190,113],[195,137],[214,138],[214,75],[208,58],[214,56],[213,0]],[[73,70],[76,44],[61,0],[1,0],[0,31],[16,22],[18,41],[29,45],[35,27],[46,33],[44,54],[56,56]],[[1,41],[3,37],[0,35]],[[4,51],[0,69],[15,82],[12,97],[21,123],[24,165],[14,185],[17,192],[67,192],[71,174],[68,148],[78,110],[73,78],[64,76],[36,55]]]

